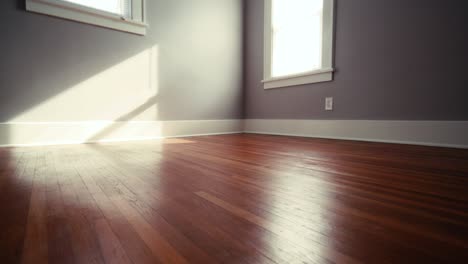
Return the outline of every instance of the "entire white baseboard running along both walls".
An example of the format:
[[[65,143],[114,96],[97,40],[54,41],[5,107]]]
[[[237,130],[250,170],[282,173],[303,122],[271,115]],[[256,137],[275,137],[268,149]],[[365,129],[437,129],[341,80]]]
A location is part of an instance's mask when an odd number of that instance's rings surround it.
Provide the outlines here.
[[[0,147],[257,133],[468,148],[468,121],[183,120],[0,123]]]

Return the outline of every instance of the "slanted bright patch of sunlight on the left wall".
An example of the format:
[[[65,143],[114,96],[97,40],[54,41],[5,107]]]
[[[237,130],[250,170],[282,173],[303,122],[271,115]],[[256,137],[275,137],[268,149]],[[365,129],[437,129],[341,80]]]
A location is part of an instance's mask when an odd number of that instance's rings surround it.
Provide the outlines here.
[[[40,124],[69,133],[74,142],[98,141],[122,129],[126,135],[137,134],[140,131],[128,130],[148,129],[147,123],[158,120],[157,96],[158,46],[153,46],[79,84],[64,87],[64,92],[9,120],[9,138],[16,142],[18,138],[40,137],[24,129],[25,125]],[[125,127],[129,122],[132,127]],[[21,127],[15,131],[17,126]],[[54,132],[43,133],[50,138]]]

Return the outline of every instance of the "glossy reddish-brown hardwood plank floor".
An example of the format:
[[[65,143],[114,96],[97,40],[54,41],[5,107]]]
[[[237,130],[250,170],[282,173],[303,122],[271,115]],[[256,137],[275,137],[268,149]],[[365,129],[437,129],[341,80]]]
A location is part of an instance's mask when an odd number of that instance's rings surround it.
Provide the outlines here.
[[[253,134],[0,149],[1,263],[466,263],[468,150]]]

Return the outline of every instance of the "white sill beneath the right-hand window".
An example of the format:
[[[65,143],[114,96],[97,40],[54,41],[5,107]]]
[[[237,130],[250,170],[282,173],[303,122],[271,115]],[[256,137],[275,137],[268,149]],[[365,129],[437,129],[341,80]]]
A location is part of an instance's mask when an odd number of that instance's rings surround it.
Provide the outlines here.
[[[262,80],[264,89],[282,88],[301,84],[328,82],[333,80],[334,69],[320,69],[316,71],[273,77]]]

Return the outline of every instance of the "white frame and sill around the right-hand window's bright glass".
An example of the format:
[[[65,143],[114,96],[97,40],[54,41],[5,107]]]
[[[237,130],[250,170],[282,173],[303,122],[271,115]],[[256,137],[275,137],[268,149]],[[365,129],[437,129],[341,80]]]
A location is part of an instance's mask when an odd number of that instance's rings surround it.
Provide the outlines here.
[[[287,86],[327,82],[333,80],[333,22],[335,0],[323,0],[323,32],[322,32],[322,67],[321,69],[291,74],[281,77],[272,77],[272,0],[265,0],[264,21],[264,89],[281,88]]]

